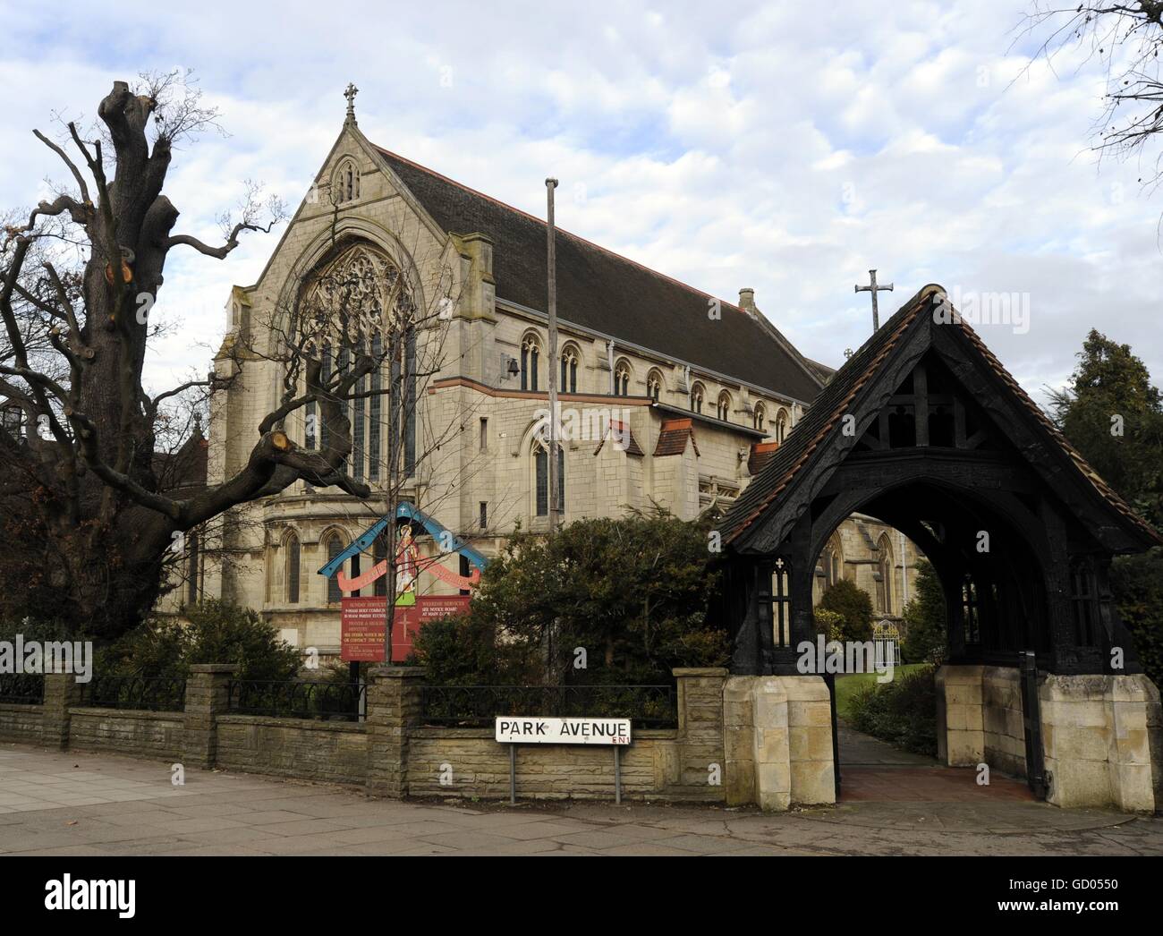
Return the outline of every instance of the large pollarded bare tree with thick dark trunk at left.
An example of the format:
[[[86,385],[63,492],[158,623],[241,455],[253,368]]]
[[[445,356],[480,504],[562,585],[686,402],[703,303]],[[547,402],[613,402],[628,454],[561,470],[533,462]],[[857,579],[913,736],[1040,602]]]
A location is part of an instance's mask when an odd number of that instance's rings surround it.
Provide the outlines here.
[[[324,387],[300,353],[307,392],[262,420],[241,470],[188,496],[166,490],[155,458],[163,407],[220,381],[211,374],[154,396],[143,387],[165,262],[176,248],[222,259],[285,212],[251,186],[221,244],[174,233],[178,209],[164,186],[176,144],[216,117],[180,76],[143,76],[136,90],[116,81],[97,114],[95,138],[73,122],[62,142],[35,131],[71,184],[9,223],[0,249],[0,600],[7,613],[112,638],[156,601],[176,533],[299,479],[370,494],[344,471],[343,400],[371,362],[356,360]],[[283,429],[308,401],[330,427],[319,450]]]

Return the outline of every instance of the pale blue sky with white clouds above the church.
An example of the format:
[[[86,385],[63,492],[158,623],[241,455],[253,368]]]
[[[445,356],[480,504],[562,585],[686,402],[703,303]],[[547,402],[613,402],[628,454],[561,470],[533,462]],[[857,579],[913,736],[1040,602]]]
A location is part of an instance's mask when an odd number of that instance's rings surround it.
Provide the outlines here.
[[[226,135],[174,156],[176,233],[219,242],[244,180],[292,208],[354,81],[374,143],[763,313],[843,363],[928,283],[1000,312],[978,331],[1022,386],[1062,386],[1092,327],[1163,380],[1163,194],[1091,147],[1103,73],[1029,65],[1028,0],[140,5],[0,0],[0,206],[66,177],[31,135],[91,120],[116,79],[193,69]],[[116,13],[120,9],[121,13]],[[205,373],[233,284],[277,243],[224,262],[178,248],[155,315],[154,392]],[[1001,298],[1007,300],[1001,305]]]

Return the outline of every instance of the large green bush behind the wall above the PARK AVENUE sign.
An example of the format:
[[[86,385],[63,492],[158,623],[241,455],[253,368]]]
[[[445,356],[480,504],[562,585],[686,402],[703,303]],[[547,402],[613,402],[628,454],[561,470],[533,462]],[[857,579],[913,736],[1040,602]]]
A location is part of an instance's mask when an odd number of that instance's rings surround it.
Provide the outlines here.
[[[443,685],[669,684],[729,658],[707,623],[714,584],[707,527],[665,512],[519,530],[468,615],[424,624],[415,656]]]

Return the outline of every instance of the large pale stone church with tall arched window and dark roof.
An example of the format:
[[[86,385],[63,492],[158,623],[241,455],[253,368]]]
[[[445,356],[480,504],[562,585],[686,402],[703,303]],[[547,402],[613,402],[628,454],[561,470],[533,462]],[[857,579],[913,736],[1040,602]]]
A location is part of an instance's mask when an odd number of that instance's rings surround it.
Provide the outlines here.
[[[427,364],[414,369],[422,373],[409,387],[400,495],[485,557],[518,526],[548,528],[550,367],[562,408],[563,522],[654,505],[688,520],[723,514],[795,431],[832,370],[804,357],[750,288],[736,303],[721,301],[561,229],[556,257],[559,337],[550,360],[545,222],[370,142],[349,103],[258,281],[231,291],[214,362],[215,374],[231,379],[212,399],[206,479],[238,470],[278,406],[285,322],[322,270],[361,277],[379,314],[401,283],[409,301],[434,310],[418,351]],[[342,363],[337,356],[331,366]],[[343,592],[316,571],[385,513],[377,492],[388,405],[374,391],[386,380],[371,374],[371,393],[348,408],[348,471],[372,496],[298,481],[231,510],[187,537],[183,580],[164,610],[221,598],[261,609],[298,646],[338,651]],[[307,407],[284,428],[314,448],[327,431],[315,422]],[[416,545],[423,556],[438,550],[430,536]],[[350,559],[347,574],[383,558],[378,545],[371,552]],[[916,557],[900,533],[855,515],[820,555],[816,595],[847,578],[869,592],[878,620],[899,620]],[[443,563],[451,573],[469,571],[456,553]],[[428,573],[419,587],[457,592]],[[383,594],[384,579],[363,593],[373,588]]]

